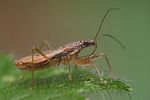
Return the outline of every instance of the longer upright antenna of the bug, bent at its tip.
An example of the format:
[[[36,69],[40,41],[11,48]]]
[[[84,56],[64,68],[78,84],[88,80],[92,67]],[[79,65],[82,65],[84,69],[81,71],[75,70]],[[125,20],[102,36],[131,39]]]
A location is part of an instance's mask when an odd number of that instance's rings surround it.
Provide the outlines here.
[[[109,12],[112,11],[112,10],[120,10],[120,9],[119,9],[119,8],[110,8],[110,9],[108,9],[108,10],[106,11],[106,13],[105,13],[105,15],[104,15],[104,17],[103,17],[103,19],[102,19],[102,21],[101,21],[101,23],[100,23],[100,26],[99,26],[99,28],[98,28],[98,31],[97,31],[97,33],[96,33],[96,36],[94,37],[94,40],[97,39],[98,35],[100,34],[100,30],[101,30],[101,28],[102,28],[102,26],[103,26],[103,23],[104,23],[105,18],[107,17],[107,15],[109,14]]]

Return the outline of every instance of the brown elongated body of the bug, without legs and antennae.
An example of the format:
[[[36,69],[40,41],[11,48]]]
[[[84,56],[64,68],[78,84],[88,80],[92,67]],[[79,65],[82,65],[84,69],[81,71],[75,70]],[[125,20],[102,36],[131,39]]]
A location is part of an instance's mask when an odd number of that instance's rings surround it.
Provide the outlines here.
[[[26,56],[15,61],[16,66],[19,69],[35,71],[45,69],[50,66],[68,64],[72,60],[76,59],[80,51],[86,47],[96,45],[94,40],[83,40],[73,43],[69,43],[56,50],[44,51],[51,63],[44,58],[41,54],[34,54],[34,62],[32,63],[32,56]],[[48,66],[47,66],[48,65]],[[33,67],[33,68],[31,68]]]

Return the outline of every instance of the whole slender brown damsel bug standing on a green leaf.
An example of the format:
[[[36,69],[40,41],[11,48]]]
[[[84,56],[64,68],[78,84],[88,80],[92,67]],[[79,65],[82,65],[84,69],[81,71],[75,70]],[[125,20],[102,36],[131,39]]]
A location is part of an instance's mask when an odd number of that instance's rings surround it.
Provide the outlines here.
[[[100,71],[98,70],[98,67],[94,64],[94,60],[98,57],[104,57],[108,63],[110,74],[112,74],[112,68],[111,64],[107,58],[107,56],[104,53],[95,54],[96,48],[97,48],[97,40],[98,35],[100,34],[100,30],[102,28],[103,22],[106,18],[106,16],[109,14],[112,10],[119,10],[118,8],[111,8],[108,9],[105,13],[104,17],[102,18],[102,21],[100,23],[100,26],[98,28],[98,31],[96,33],[96,36],[94,39],[91,40],[81,40],[77,42],[72,42],[67,45],[64,45],[63,47],[60,47],[56,50],[48,50],[48,51],[41,51],[41,49],[37,47],[32,48],[32,55],[26,56],[20,59],[17,59],[15,61],[15,65],[22,70],[27,70],[32,72],[32,86],[34,84],[34,71],[46,69],[50,66],[58,66],[60,64],[65,64],[69,66],[69,75],[68,78],[72,80],[72,75],[70,71],[70,64],[74,63],[78,66],[87,66],[92,65],[96,68],[96,71],[98,75],[100,75]],[[115,40],[119,45],[121,45],[123,48],[125,48],[120,41],[118,41],[116,38],[114,38],[110,34],[101,34],[101,37],[108,36]],[[44,44],[47,45],[47,47],[50,49],[50,46],[47,41],[43,42],[40,48],[44,46]],[[91,54],[79,57],[79,53],[82,49],[94,46],[94,50],[91,52]],[[35,54],[36,52],[36,54]]]

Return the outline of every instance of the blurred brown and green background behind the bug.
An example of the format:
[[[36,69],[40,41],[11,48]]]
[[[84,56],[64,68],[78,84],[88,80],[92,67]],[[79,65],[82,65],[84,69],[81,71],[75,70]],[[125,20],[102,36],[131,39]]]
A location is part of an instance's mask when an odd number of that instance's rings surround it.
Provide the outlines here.
[[[113,71],[130,80],[132,100],[148,100],[149,0],[0,0],[0,54],[19,58],[44,40],[56,49],[70,41],[92,39],[108,8],[120,11],[109,14],[101,32],[117,37],[127,49],[104,38],[97,52],[107,54]]]

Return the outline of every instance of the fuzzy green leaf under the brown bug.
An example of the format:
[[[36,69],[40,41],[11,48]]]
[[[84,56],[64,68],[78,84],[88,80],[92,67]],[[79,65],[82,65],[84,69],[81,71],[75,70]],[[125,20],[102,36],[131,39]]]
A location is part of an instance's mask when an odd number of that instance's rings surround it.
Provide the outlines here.
[[[67,67],[52,67],[35,72],[36,84],[30,89],[31,74],[23,80],[13,64],[12,57],[0,56],[0,99],[1,100],[85,100],[113,98],[129,95],[132,88],[119,78],[108,76],[99,79],[92,68],[72,68],[73,81],[67,78]]]

